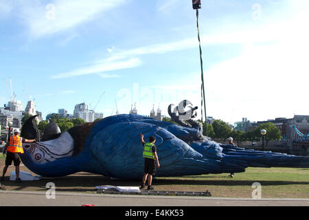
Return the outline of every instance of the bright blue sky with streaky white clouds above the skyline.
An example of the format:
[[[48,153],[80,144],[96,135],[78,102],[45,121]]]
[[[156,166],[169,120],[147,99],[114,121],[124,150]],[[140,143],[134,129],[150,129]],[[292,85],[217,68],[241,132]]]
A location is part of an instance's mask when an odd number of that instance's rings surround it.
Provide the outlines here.
[[[309,115],[307,0],[202,0],[206,114],[233,124]],[[0,0],[0,106],[104,117],[190,100],[201,118],[191,0]]]

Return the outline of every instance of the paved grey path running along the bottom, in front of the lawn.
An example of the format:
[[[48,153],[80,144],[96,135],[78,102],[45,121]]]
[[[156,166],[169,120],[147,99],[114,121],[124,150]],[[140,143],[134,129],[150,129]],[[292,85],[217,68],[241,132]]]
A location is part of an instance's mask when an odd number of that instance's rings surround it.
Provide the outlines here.
[[[0,190],[0,206],[309,206],[309,199],[238,199],[217,197],[176,197],[150,195],[104,195]],[[51,195],[49,195],[51,196]]]

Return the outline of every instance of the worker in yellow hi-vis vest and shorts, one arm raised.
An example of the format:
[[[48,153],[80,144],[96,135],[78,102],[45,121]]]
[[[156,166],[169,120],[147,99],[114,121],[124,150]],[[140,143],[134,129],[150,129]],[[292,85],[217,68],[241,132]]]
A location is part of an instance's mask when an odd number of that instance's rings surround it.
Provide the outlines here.
[[[145,166],[144,166],[144,176],[143,181],[141,183],[141,189],[145,187],[146,180],[148,180],[148,190],[153,190],[153,186],[151,186],[152,175],[156,173],[156,162],[157,167],[160,167],[159,159],[157,155],[157,148],[155,146],[156,137],[150,136],[149,142],[144,142],[144,135],[142,133],[139,134],[141,137],[141,144],[144,146],[143,157],[145,157]]]

